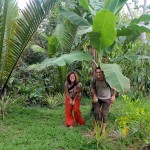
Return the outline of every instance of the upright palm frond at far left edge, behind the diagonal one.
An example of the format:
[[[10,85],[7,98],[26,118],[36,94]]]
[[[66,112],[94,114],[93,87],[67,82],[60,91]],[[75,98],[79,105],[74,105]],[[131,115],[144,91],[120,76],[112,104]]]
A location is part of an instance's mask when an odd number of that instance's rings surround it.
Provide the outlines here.
[[[1,35],[1,52],[0,52],[0,72],[2,73],[2,68],[6,66],[6,56],[8,54],[6,41],[11,37],[11,25],[14,20],[18,16],[18,6],[17,0],[7,0],[1,2],[1,27],[0,27],[0,35]],[[2,63],[3,62],[3,63]],[[3,70],[4,71],[4,70]],[[1,76],[2,78],[2,76]],[[2,79],[0,79],[1,81]]]

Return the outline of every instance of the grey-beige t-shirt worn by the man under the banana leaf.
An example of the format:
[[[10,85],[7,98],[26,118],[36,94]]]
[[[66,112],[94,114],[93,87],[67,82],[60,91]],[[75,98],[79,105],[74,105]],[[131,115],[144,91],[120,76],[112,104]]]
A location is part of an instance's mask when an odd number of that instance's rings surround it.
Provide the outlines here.
[[[97,78],[92,78],[91,87],[95,90],[98,99],[110,99],[111,89],[105,80],[98,80]]]

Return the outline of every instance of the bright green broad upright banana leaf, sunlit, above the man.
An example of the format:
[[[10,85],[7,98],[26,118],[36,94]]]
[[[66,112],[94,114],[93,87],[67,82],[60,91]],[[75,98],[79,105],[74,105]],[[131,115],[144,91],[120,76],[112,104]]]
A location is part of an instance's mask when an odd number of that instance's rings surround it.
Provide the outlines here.
[[[108,10],[97,12],[94,17],[93,30],[90,33],[92,46],[101,52],[113,44],[116,38],[116,17]]]

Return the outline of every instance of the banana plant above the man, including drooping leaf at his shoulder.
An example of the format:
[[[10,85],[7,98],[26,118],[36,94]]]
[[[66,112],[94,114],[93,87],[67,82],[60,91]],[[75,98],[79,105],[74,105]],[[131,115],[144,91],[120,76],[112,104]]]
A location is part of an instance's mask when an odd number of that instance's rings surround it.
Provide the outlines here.
[[[126,38],[129,39],[131,34],[137,37],[137,34],[142,32],[149,32],[149,26],[142,25],[140,23],[141,21],[149,21],[149,15],[143,15],[138,19],[131,21],[129,26],[124,26],[120,29],[117,29],[116,15],[120,12],[127,0],[107,0],[106,3],[97,3],[97,7],[93,2],[94,0],[79,0],[80,6],[88,11],[88,16],[85,15],[86,23],[84,18],[80,18],[80,21],[78,22],[75,21],[76,15],[70,14],[69,10],[65,9],[61,11],[61,14],[70,22],[78,24],[80,27],[78,34],[80,36],[89,34],[90,42],[92,46],[98,51],[100,57],[99,65],[104,70],[106,79],[109,84],[111,86],[115,86],[117,91],[127,90],[130,87],[130,81],[122,74],[122,69],[120,66],[117,64],[102,64],[101,57],[106,52],[107,48],[113,48],[117,36],[126,36]],[[73,19],[71,16],[74,16]],[[114,79],[114,76],[116,79]],[[118,81],[116,82],[116,80]]]

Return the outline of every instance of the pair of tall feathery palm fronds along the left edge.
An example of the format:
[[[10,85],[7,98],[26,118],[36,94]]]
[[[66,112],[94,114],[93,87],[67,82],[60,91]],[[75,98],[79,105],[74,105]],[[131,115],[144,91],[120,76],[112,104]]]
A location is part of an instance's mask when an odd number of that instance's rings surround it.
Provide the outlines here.
[[[55,2],[29,0],[17,14],[16,0],[0,1],[0,98],[25,47]]]

